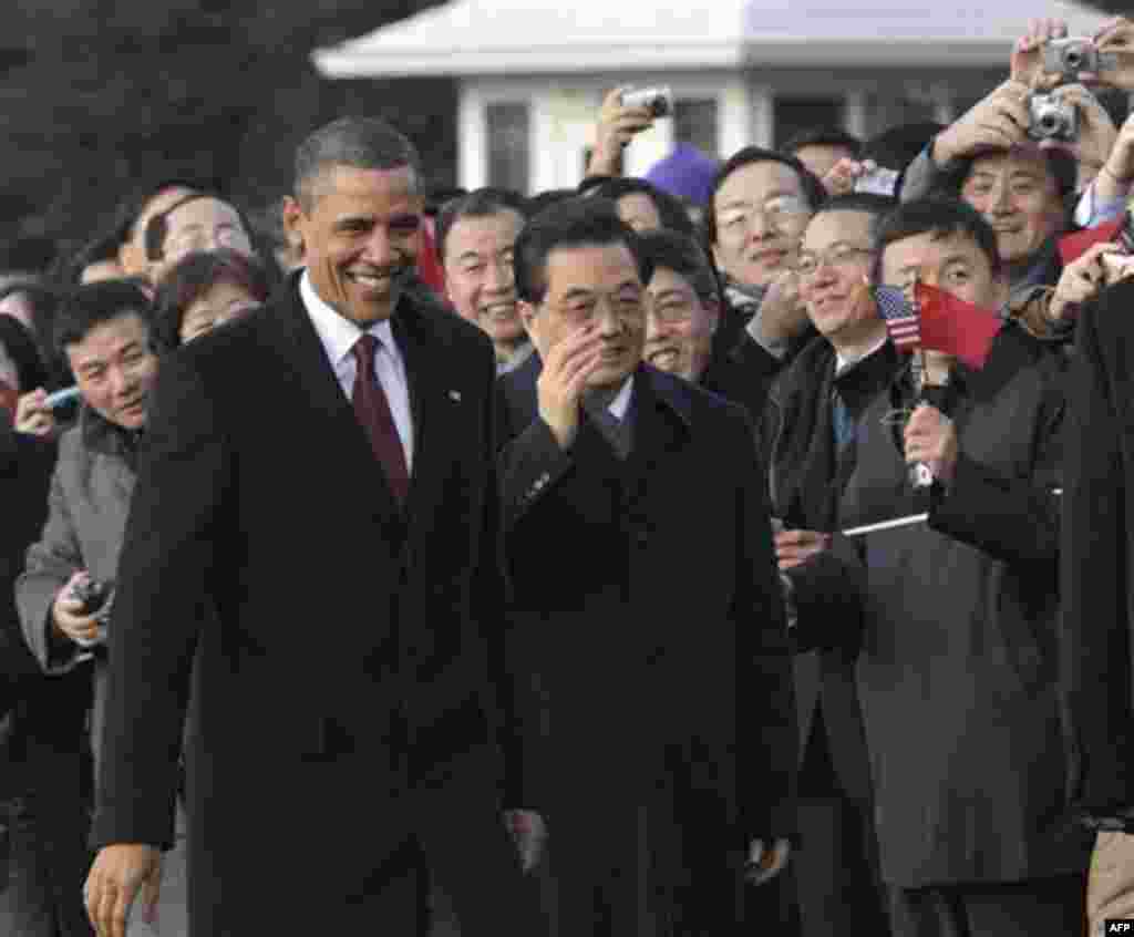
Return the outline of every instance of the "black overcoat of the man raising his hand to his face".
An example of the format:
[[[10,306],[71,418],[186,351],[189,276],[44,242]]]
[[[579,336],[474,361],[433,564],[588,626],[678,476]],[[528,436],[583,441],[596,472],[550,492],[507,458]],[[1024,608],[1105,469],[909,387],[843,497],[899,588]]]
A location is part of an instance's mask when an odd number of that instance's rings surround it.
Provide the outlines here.
[[[539,366],[501,379],[513,432],[501,480],[511,658],[527,678],[524,782],[549,821],[560,932],[606,932],[565,894],[587,893],[587,858],[609,861],[641,810],[649,876],[671,915],[663,932],[738,925],[738,863],[752,838],[790,835],[795,774],[790,657],[751,424],[641,365],[629,458],[585,415],[564,451],[536,416]],[[633,932],[616,920],[613,932]]]

